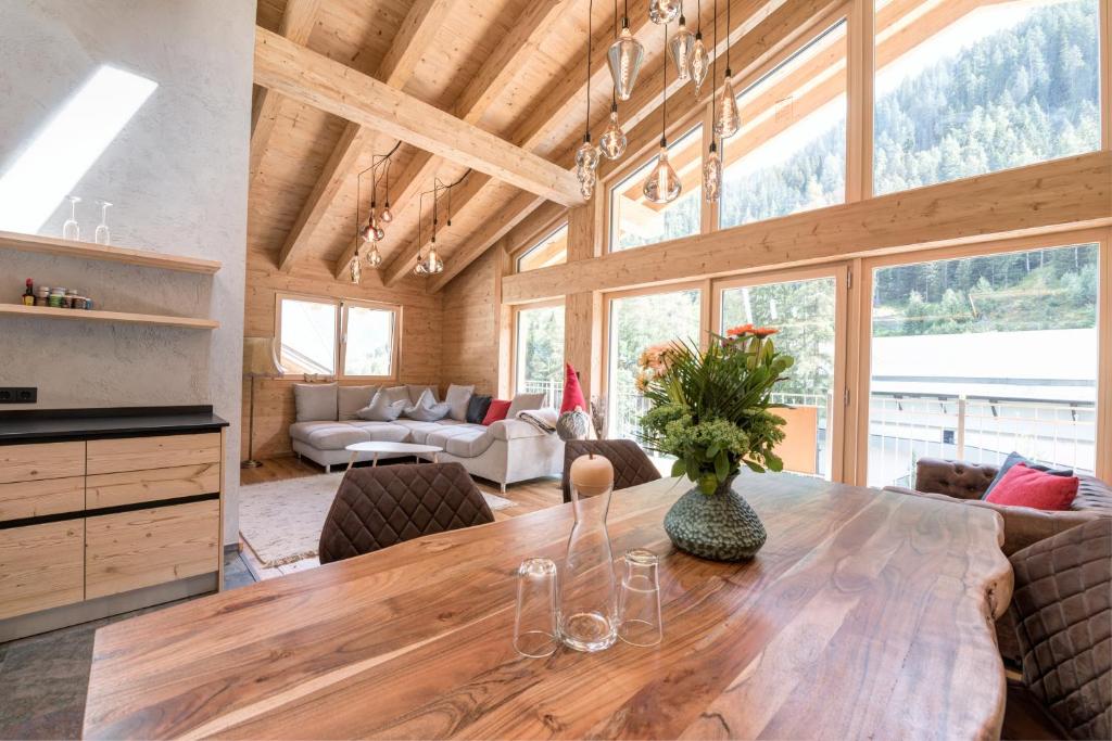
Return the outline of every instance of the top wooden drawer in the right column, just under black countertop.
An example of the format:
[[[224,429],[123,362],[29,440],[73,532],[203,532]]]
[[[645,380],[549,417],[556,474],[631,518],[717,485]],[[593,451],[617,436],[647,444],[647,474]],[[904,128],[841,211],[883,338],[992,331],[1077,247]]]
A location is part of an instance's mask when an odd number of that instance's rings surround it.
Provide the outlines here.
[[[220,433],[89,441],[89,475],[220,462]]]

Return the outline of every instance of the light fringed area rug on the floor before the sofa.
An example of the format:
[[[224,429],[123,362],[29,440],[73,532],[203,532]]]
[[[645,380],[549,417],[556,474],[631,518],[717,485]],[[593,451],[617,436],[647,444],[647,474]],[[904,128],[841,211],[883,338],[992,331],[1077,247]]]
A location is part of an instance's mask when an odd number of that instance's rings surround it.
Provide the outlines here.
[[[239,488],[239,534],[264,567],[272,569],[317,554],[320,528],[342,473],[324,473]],[[483,492],[492,510],[514,502]]]

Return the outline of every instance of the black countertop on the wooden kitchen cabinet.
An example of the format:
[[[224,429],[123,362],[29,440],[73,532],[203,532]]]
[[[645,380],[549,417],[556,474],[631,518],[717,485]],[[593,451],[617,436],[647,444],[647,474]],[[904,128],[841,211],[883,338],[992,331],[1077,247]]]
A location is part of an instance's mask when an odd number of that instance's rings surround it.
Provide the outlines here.
[[[28,409],[0,412],[0,445],[216,432],[225,427],[227,420],[211,407]]]

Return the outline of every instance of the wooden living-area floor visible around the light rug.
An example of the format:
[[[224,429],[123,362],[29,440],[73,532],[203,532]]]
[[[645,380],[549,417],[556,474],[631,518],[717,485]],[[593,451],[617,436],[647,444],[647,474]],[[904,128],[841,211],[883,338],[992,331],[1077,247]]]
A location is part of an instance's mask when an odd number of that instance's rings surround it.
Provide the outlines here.
[[[405,463],[393,462],[384,462],[383,464],[405,465]],[[360,465],[369,465],[369,463],[361,463]],[[307,475],[320,475],[324,472],[324,468],[317,465],[316,463],[305,459],[295,458],[294,455],[268,458],[265,459],[262,461],[262,465],[257,469],[240,469],[239,483],[248,485],[252,483],[265,483],[268,481],[282,481],[286,479],[298,479]],[[563,494],[560,493],[559,478],[538,479],[525,483],[509,484],[506,487],[505,494],[502,493],[502,490],[497,484],[493,484],[488,481],[476,479],[475,483],[481,491],[488,494],[505,497],[514,502],[514,507],[494,511],[494,519],[496,521],[509,520],[510,518],[519,517],[522,514],[529,514],[530,512],[536,512],[537,510],[555,507],[564,501]],[[246,542],[240,540],[239,547],[248,569],[251,574],[259,580],[274,579],[275,577],[294,573],[295,571],[312,569],[319,565],[317,559],[311,558],[295,561],[280,567],[268,568],[262,565],[261,561],[259,561],[259,559],[255,555],[255,551],[252,551]]]

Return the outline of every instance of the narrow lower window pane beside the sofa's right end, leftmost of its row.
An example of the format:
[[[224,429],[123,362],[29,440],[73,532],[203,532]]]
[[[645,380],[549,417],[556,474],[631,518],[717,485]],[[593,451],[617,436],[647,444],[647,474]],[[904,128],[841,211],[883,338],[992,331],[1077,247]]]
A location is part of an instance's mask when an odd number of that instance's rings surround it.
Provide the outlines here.
[[[545,405],[559,407],[564,397],[564,304],[518,309],[515,389],[544,393]]]

